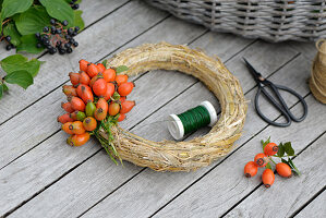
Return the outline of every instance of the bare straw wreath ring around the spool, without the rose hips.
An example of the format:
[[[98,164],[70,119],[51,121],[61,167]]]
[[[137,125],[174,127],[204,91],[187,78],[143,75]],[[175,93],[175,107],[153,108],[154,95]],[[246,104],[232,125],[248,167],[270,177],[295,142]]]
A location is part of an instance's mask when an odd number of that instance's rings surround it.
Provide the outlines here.
[[[239,81],[218,59],[186,46],[144,44],[108,60],[108,66],[128,65],[128,75],[152,70],[177,70],[201,80],[219,99],[221,114],[210,132],[188,142],[152,142],[119,125],[111,128],[120,157],[156,171],[190,171],[208,166],[230,152],[241,133],[246,104]],[[100,134],[108,138],[105,131]]]

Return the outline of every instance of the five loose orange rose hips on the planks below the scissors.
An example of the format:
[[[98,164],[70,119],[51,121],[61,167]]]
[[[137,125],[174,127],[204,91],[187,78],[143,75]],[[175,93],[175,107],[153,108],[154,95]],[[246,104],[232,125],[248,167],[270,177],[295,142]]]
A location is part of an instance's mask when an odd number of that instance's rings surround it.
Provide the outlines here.
[[[271,156],[276,155],[278,152],[278,145],[275,143],[268,143],[264,153],[259,153],[255,156],[254,161],[249,161],[244,166],[244,175],[252,178],[256,175],[258,168],[264,168],[269,161],[271,161]],[[285,162],[276,164],[276,171],[280,177],[290,178],[292,175],[291,168]],[[262,180],[265,187],[270,187],[275,181],[274,171],[269,168],[266,168],[262,174]]]

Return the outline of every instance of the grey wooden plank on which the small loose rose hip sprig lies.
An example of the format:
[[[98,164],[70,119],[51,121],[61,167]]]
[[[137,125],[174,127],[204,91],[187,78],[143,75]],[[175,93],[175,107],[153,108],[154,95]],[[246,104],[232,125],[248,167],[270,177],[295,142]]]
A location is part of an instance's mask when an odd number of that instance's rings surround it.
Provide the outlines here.
[[[325,110],[324,106],[318,104],[312,96],[309,96],[306,101],[310,106],[310,111],[304,122],[292,123],[287,129],[268,126],[219,164],[206,177],[191,185],[182,194],[179,192],[178,197],[158,211],[157,216],[167,217],[182,211],[185,217],[190,215],[202,217],[215,215],[218,217],[228,211],[231,206],[250,194],[261,183],[259,177],[253,179],[243,177],[243,166],[245,162],[262,150],[261,140],[271,136],[271,140],[276,142],[291,141],[295,152],[299,153],[325,131],[318,124],[326,121],[326,114],[322,112]],[[301,110],[301,106],[298,105],[294,111],[300,112]],[[249,108],[249,114],[254,114],[251,107]],[[318,114],[318,119],[316,119],[316,114]],[[256,116],[255,118],[258,119]],[[256,126],[257,124],[256,121],[247,118],[246,126]],[[246,135],[250,134],[252,136],[255,134],[246,131],[246,128],[244,131]],[[242,142],[245,141],[241,138],[239,143],[241,144]],[[302,166],[298,167],[301,168]]]

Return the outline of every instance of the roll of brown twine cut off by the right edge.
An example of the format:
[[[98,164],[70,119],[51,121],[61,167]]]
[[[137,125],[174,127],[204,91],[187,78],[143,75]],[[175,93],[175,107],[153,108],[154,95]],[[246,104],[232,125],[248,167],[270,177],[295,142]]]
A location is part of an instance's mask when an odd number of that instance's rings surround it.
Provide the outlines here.
[[[326,104],[326,39],[319,39],[316,47],[318,53],[313,62],[309,86],[315,98]]]

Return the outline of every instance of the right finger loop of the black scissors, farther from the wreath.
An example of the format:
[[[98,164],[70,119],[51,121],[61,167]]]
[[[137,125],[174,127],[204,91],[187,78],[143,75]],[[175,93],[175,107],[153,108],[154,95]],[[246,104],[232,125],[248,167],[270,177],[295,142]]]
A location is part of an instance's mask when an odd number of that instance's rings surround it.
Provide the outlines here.
[[[281,101],[285,110],[287,111],[287,113],[289,114],[289,117],[291,118],[291,120],[293,120],[294,122],[301,122],[301,121],[303,121],[306,118],[306,114],[307,114],[307,106],[306,106],[306,102],[305,102],[304,98],[301,95],[299,95],[299,93],[297,93],[295,90],[293,90],[291,88],[288,88],[288,87],[282,86],[282,85],[275,85],[275,84],[273,84],[273,85],[276,87],[275,92],[278,94],[278,96],[280,96],[279,100]],[[302,114],[301,118],[297,118],[297,117],[293,116],[293,113],[290,111],[289,107],[285,102],[283,98],[279,94],[278,89],[288,92],[288,93],[292,94],[293,96],[295,96],[299,99],[299,101],[301,102],[301,105],[303,107],[303,114]]]

